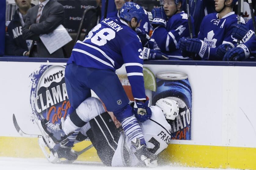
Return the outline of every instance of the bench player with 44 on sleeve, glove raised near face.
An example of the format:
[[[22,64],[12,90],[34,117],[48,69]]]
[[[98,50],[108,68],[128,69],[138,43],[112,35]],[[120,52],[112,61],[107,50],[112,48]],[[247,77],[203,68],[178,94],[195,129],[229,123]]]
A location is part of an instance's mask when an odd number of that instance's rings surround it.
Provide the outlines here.
[[[161,50],[169,60],[187,60],[181,50],[177,49],[177,43],[181,37],[190,35],[187,14],[182,11],[185,0],[164,0],[163,7],[152,9],[154,30],[149,41],[150,49]],[[169,20],[166,22],[167,17]],[[194,23],[191,17],[192,25]],[[193,27],[194,31],[194,27]],[[194,34],[194,32],[193,32]]]

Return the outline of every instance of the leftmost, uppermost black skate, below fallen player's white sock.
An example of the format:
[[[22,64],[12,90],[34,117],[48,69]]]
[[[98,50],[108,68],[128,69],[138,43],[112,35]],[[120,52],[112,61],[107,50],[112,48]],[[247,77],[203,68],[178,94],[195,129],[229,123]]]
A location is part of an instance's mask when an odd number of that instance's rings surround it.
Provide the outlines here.
[[[46,119],[38,121],[38,126],[42,132],[42,135],[44,136],[44,139],[46,139],[48,136],[53,140],[54,143],[60,143],[68,137],[60,128],[59,124],[53,124]]]

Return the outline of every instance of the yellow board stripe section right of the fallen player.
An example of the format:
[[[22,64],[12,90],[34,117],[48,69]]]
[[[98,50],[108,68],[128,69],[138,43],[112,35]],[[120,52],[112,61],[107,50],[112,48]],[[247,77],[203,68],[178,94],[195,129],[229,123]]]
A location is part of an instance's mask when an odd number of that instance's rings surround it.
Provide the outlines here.
[[[169,144],[160,158],[180,166],[256,170],[256,148]]]

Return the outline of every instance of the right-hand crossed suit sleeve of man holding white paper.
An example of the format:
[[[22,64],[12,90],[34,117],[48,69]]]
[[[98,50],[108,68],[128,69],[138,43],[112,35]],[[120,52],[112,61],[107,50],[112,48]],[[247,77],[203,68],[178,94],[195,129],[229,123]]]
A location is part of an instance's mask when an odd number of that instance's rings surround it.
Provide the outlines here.
[[[30,30],[37,35],[48,34],[64,22],[65,14],[62,5],[53,5],[47,19],[38,24],[32,24]],[[27,19],[26,19],[27,20]]]

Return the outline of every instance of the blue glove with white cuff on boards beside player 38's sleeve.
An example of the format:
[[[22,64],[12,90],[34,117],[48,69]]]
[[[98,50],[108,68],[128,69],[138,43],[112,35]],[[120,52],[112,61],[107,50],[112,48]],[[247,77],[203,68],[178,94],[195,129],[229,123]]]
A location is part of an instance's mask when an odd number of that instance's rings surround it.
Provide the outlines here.
[[[168,60],[168,56],[155,49],[144,47],[142,51],[143,60]]]

